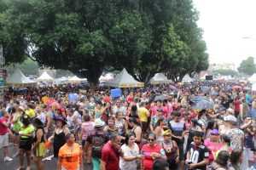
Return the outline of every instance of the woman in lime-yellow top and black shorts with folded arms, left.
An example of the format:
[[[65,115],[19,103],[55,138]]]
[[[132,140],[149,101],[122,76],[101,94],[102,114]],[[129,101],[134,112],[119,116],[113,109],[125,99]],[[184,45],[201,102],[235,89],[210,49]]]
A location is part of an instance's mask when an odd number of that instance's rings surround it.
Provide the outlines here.
[[[31,150],[32,150],[32,136],[35,128],[29,122],[30,117],[27,115],[21,116],[23,126],[20,128],[20,145],[19,145],[19,161],[20,167],[17,170],[24,168],[24,155],[26,154],[26,170],[30,170],[31,165]]]

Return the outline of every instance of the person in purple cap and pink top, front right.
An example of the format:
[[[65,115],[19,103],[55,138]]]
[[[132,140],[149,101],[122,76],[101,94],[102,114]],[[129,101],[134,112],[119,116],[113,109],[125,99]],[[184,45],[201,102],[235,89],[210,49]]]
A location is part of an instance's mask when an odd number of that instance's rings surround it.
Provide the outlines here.
[[[217,157],[217,151],[222,147],[222,144],[219,141],[218,129],[212,129],[210,138],[205,140],[205,145],[209,150],[209,164],[211,164]]]

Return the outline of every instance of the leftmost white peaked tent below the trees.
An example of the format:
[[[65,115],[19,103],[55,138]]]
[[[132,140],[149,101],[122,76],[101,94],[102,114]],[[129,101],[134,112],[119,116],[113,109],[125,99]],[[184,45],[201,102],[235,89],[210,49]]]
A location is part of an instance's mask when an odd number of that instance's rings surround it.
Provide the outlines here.
[[[6,82],[9,87],[33,86],[37,83],[25,77],[19,68],[16,68],[15,72],[6,78]]]

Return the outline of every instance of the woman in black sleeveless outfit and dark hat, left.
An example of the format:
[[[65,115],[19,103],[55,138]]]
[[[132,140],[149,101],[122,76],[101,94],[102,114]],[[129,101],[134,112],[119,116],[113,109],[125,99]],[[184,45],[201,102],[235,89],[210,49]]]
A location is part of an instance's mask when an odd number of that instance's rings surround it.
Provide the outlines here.
[[[56,121],[56,127],[55,131],[52,136],[49,137],[49,141],[54,140],[53,142],[53,148],[54,148],[54,157],[58,157],[59,150],[61,146],[65,144],[65,136],[67,133],[70,133],[67,122],[62,116],[58,116],[55,118]]]

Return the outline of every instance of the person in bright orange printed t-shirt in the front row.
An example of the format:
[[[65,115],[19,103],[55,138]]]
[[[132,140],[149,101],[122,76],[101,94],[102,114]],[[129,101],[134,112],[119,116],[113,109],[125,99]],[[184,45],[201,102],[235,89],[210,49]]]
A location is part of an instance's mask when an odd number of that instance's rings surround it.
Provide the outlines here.
[[[83,150],[75,143],[74,134],[67,133],[64,141],[58,154],[57,170],[84,169]]]

